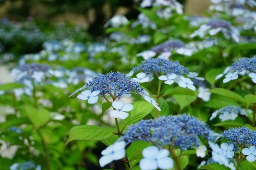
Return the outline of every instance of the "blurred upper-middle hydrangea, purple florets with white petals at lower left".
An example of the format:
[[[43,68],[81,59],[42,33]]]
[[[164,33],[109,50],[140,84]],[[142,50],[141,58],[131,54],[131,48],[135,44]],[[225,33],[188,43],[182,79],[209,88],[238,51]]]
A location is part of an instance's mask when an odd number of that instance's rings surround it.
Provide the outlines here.
[[[137,56],[142,56],[145,60],[148,60],[157,54],[160,54],[159,58],[169,58],[172,54],[172,50],[176,50],[179,48],[182,48],[184,46],[184,43],[180,40],[168,40],[166,42],[163,42],[157,46],[152,47],[149,50],[146,50],[144,52],[141,52],[137,54]]]

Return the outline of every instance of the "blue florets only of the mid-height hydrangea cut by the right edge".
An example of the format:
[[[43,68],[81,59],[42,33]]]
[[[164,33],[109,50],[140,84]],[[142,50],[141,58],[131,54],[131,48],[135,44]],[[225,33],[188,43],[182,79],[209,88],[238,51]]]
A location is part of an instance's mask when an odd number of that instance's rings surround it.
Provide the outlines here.
[[[256,73],[256,55],[252,58],[241,58],[240,60],[232,64],[232,68],[237,70],[238,72],[246,70]]]

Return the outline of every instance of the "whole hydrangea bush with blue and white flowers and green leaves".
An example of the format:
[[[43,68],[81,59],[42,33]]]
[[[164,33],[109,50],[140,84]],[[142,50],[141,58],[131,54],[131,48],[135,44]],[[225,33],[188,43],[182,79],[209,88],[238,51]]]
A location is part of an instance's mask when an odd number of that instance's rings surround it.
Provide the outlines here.
[[[97,42],[56,33],[19,56],[0,85],[0,169],[256,169],[256,3],[211,1],[207,17],[136,1]]]

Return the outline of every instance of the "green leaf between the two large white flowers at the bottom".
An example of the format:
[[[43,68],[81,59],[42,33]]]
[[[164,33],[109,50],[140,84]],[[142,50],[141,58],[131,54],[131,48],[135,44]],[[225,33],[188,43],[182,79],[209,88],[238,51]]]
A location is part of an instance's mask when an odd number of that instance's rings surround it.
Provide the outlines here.
[[[134,167],[134,165],[143,158],[142,151],[148,146],[151,146],[151,143],[146,141],[135,141],[128,147],[127,157],[131,167]]]

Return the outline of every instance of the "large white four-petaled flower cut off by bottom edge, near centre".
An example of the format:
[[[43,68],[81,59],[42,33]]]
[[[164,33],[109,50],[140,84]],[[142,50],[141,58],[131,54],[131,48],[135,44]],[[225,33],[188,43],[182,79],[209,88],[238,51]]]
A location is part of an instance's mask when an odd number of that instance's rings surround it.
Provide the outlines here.
[[[150,146],[143,150],[143,159],[140,160],[141,170],[171,169],[173,160],[169,156],[169,150],[159,150],[156,146]]]

